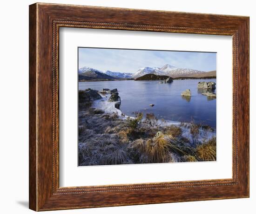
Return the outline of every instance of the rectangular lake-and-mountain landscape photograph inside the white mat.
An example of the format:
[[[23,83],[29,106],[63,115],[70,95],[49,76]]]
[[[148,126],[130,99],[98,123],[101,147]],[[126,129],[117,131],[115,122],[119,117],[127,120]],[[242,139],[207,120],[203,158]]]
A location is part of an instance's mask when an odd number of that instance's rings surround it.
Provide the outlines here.
[[[78,165],[216,161],[216,52],[78,47]]]

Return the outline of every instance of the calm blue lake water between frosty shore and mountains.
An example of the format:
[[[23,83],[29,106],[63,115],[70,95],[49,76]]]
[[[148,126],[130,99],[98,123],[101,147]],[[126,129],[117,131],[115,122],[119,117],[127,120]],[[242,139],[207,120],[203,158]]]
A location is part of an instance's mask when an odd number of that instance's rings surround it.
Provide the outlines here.
[[[154,113],[158,119],[180,122],[193,120],[216,128],[216,99],[208,99],[197,91],[200,81],[216,83],[216,79],[174,80],[170,84],[134,80],[79,82],[79,90],[117,88],[121,97],[120,110],[128,116],[134,116],[133,112],[143,112],[144,115]],[[186,89],[191,91],[190,99],[181,96]]]

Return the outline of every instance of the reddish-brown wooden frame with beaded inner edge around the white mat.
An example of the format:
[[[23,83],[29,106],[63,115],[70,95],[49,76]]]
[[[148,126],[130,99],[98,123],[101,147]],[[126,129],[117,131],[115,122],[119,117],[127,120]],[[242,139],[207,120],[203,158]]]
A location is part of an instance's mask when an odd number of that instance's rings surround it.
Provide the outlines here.
[[[59,28],[231,35],[233,177],[59,187]],[[29,6],[29,208],[35,211],[249,197],[249,17],[36,3]]]

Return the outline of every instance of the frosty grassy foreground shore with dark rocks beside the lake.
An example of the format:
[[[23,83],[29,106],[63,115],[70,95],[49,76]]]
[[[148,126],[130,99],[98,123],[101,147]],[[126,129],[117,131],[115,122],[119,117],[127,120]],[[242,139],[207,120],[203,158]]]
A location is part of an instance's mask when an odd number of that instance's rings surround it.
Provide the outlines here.
[[[216,131],[120,110],[117,89],[79,91],[79,166],[216,161]]]

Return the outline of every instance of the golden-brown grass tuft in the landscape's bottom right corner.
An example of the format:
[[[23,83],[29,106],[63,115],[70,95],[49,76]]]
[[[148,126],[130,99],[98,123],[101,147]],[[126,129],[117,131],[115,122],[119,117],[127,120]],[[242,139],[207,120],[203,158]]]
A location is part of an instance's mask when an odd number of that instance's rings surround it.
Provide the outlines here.
[[[196,155],[201,161],[216,161],[216,137],[197,145]]]

